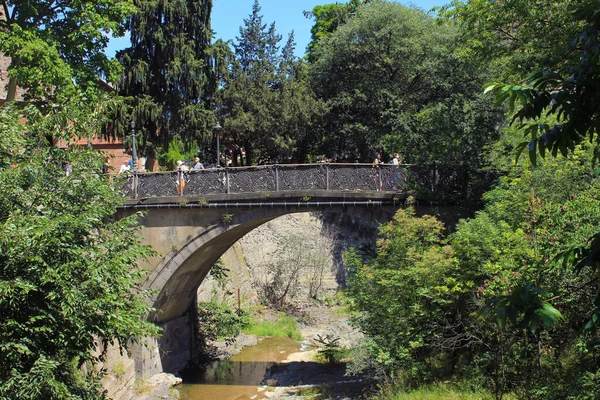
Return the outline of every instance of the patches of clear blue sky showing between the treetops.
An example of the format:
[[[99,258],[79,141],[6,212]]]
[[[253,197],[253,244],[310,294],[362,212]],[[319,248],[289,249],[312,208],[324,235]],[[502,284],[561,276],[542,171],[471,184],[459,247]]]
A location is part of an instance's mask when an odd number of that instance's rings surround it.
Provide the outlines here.
[[[448,3],[450,0],[413,0],[400,1],[412,4],[424,11],[429,11],[434,6]],[[301,57],[310,42],[310,28],[312,20],[304,17],[303,11],[310,11],[314,6],[328,3],[345,3],[345,0],[259,0],[263,22],[275,22],[277,33],[283,36],[281,45],[287,40],[288,34],[293,30],[296,40],[296,55]],[[213,0],[212,28],[215,39],[235,40],[239,36],[240,26],[244,18],[248,18],[252,11],[254,0]],[[117,50],[129,46],[129,37],[111,40],[106,54],[113,57]]]

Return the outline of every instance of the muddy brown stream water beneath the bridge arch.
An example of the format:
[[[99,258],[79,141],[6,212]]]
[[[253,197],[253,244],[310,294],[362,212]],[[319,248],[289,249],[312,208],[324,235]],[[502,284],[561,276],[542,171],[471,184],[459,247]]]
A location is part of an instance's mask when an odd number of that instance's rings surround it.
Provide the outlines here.
[[[257,394],[265,372],[297,352],[300,345],[289,338],[267,338],[245,347],[229,360],[215,361],[206,370],[183,377],[178,389],[182,400],[243,400]],[[260,392],[255,398],[261,398]]]

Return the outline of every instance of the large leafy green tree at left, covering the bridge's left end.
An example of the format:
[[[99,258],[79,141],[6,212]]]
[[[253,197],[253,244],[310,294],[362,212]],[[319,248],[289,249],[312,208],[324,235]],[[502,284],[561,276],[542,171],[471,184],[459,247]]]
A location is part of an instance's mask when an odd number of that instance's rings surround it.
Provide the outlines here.
[[[101,154],[47,141],[98,134],[85,129],[101,126],[89,122],[103,113],[86,101],[73,98],[45,115],[0,110],[2,399],[102,398],[99,344],[126,348],[157,333],[144,321],[137,267],[153,253],[132,229],[136,215],[115,220],[120,183],[101,174]]]

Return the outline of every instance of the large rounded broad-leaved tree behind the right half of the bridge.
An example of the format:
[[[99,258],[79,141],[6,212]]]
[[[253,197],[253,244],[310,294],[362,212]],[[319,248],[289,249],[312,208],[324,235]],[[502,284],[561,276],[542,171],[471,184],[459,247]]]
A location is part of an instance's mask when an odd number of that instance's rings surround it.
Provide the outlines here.
[[[417,9],[359,6],[320,40],[311,65],[313,89],[328,106],[321,148],[348,161],[370,162],[383,149],[408,163],[481,164],[502,115],[481,98],[484,69],[457,57],[454,37]]]

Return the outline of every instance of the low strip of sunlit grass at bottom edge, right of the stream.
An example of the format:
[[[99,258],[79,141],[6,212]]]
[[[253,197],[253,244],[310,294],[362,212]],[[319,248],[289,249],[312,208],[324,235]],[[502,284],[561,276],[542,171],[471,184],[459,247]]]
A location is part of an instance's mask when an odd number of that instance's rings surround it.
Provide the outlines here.
[[[505,397],[509,400],[509,397]],[[487,391],[463,390],[454,386],[430,385],[414,390],[388,387],[378,395],[379,400],[493,400]]]

